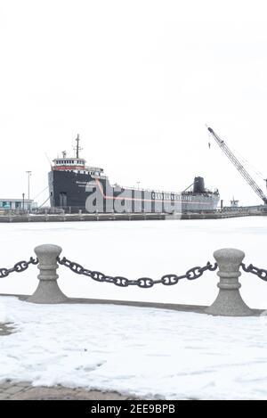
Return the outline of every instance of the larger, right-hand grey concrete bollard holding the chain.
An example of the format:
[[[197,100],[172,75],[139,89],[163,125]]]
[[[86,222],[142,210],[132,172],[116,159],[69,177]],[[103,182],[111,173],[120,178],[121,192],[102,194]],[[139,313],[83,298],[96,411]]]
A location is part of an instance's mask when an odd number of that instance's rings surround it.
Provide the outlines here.
[[[206,314],[214,316],[253,316],[254,312],[247,307],[241,298],[239,289],[239,266],[245,257],[243,251],[235,249],[223,249],[214,252],[214,258],[219,266],[217,275],[220,289],[217,298],[211,307],[206,308]]]

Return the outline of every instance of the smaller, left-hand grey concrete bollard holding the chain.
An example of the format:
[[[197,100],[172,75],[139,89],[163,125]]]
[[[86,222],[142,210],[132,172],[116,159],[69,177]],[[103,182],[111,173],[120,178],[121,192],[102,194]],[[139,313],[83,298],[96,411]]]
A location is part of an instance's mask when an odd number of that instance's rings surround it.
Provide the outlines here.
[[[68,300],[62,293],[57,280],[56,270],[59,267],[57,257],[61,254],[61,247],[52,244],[39,245],[35,248],[39,260],[39,284],[36,291],[27,301],[32,303],[64,303]]]

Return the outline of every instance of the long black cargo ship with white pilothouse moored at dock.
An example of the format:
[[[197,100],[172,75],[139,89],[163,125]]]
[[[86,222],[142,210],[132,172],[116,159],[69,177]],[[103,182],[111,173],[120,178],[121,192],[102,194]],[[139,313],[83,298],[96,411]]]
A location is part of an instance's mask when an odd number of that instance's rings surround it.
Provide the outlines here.
[[[208,190],[204,178],[195,176],[184,191],[165,192],[110,184],[103,168],[86,165],[80,157],[77,135],[75,157],[53,160],[49,172],[49,193],[52,208],[68,213],[186,213],[208,212],[217,208],[218,190]]]

